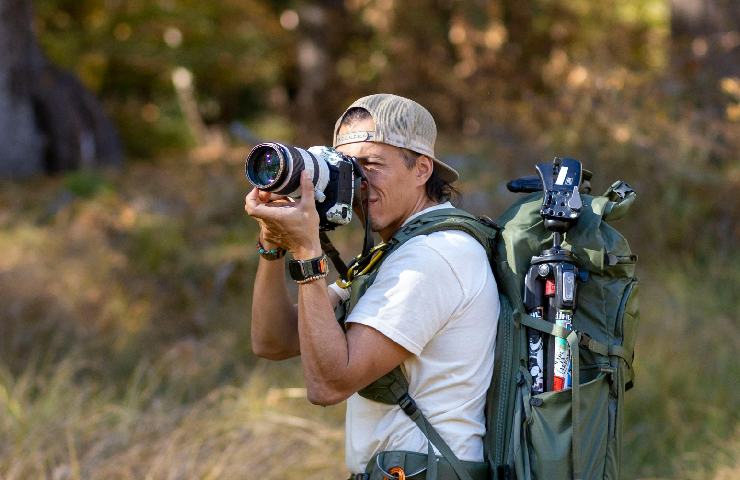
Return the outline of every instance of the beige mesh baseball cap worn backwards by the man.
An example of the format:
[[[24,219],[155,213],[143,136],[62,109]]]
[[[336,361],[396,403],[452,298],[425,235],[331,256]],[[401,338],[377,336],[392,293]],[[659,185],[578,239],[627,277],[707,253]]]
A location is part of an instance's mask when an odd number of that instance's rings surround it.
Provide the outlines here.
[[[373,117],[375,131],[350,132],[338,135],[342,119],[351,108],[364,108]],[[459,178],[457,171],[434,155],[437,125],[429,111],[408,98],[390,93],[368,95],[356,100],[339,117],[334,126],[334,147],[356,142],[378,142],[407,148],[434,161],[440,178],[452,183]]]

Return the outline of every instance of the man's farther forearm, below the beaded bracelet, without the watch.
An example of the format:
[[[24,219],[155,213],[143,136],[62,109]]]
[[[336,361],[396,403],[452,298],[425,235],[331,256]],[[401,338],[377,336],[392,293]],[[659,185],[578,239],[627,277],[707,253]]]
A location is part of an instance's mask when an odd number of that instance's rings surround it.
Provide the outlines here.
[[[273,360],[300,353],[297,313],[288,295],[284,260],[259,260],[252,295],[252,350]]]

